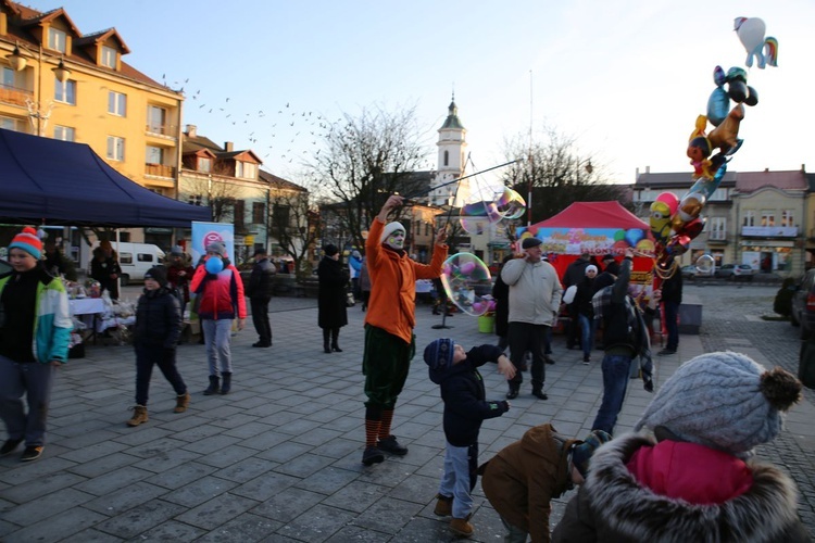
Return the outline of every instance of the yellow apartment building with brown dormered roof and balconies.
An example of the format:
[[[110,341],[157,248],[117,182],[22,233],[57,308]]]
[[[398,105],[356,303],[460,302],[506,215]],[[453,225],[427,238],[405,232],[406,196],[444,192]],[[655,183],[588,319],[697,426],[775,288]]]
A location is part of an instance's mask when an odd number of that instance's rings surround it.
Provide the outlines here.
[[[0,0],[0,128],[87,143],[176,198],[184,96],[124,62],[129,52],[115,28],[84,34],[62,8]],[[131,241],[168,247],[172,233],[134,230]]]

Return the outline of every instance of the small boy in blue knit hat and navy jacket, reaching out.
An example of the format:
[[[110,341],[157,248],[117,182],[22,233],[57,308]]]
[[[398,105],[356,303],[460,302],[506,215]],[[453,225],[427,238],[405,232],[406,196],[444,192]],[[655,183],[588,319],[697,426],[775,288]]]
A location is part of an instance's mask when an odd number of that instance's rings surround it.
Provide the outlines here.
[[[465,352],[451,339],[438,339],[425,348],[425,363],[430,380],[440,386],[444,401],[444,475],[439,485],[435,514],[452,515],[450,529],[460,535],[472,535],[468,522],[473,508],[471,492],[478,467],[478,431],[487,418],[500,417],[510,409],[506,401],[487,402],[484,379],[478,367],[498,363],[506,379],[515,377],[515,366],[496,345],[476,346]]]

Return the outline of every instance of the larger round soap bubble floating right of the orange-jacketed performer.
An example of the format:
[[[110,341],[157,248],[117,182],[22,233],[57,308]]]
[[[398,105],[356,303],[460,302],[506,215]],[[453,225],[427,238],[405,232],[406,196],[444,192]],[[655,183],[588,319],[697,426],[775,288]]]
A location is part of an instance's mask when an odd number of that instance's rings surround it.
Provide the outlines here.
[[[457,253],[444,261],[441,283],[448,300],[456,307],[477,317],[490,308],[492,279],[481,260],[471,253]]]

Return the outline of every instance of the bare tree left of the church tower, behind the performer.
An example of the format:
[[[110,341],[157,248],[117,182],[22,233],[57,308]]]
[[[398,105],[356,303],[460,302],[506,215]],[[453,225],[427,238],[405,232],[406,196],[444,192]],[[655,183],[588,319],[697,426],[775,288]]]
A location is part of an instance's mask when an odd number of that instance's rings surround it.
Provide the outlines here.
[[[428,154],[421,132],[415,106],[394,112],[364,109],[358,117],[344,114],[329,125],[322,154],[308,165],[322,189],[321,200],[329,204],[321,206],[322,220],[336,225],[351,244],[362,247],[363,231],[388,195],[424,195],[427,180],[415,174],[426,166]]]

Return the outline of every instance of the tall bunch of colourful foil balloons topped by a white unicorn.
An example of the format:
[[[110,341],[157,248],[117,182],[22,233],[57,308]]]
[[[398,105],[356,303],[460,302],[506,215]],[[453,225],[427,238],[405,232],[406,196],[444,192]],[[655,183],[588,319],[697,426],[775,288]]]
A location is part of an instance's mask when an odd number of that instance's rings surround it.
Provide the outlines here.
[[[736,18],[736,31],[748,51],[748,66],[752,66],[753,56],[760,68],[767,63],[777,66],[778,41],[764,39],[764,28],[761,18]],[[758,103],[758,93],[748,86],[748,74],[742,67],[734,66],[725,72],[722,66],[716,66],[713,81],[716,88],[707,100],[707,115],[697,117],[686,151],[695,182],[681,199],[673,192],[663,192],[651,204],[649,224],[655,241],[655,269],[661,265],[666,268],[670,258],[685,253],[690,241],[704,229],[705,219],[700,213],[718,188],[727,173],[727,163],[743,141],[738,136],[744,105]],[[735,102],[732,108],[731,101]],[[713,125],[710,132],[709,122]],[[711,156],[714,151],[716,154]]]

